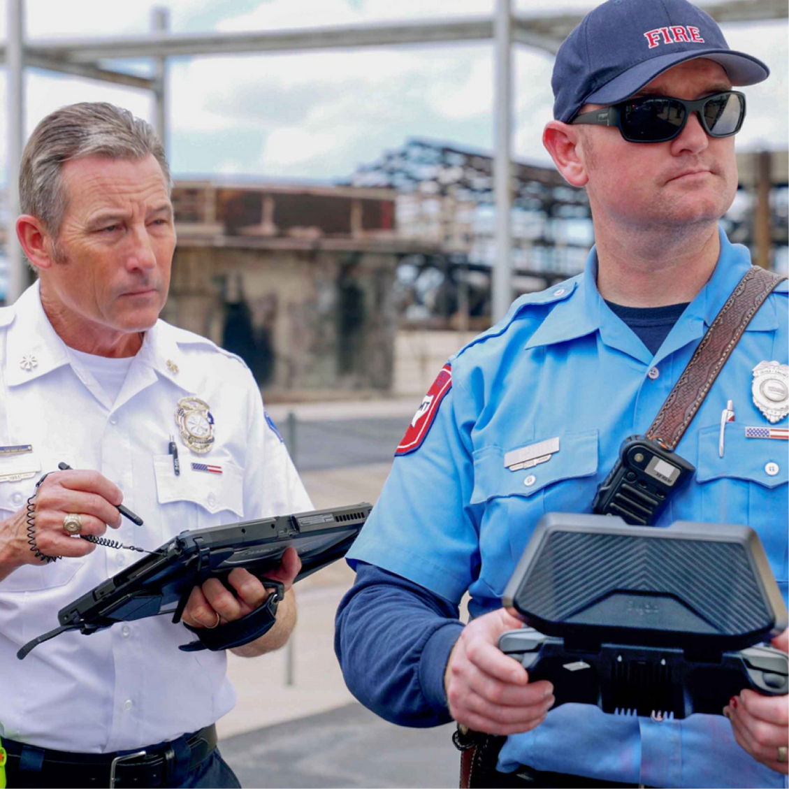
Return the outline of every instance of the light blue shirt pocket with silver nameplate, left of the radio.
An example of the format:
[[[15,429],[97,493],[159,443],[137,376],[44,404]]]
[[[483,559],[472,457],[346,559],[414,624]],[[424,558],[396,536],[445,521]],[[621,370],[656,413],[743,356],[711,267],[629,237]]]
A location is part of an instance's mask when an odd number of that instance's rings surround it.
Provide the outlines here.
[[[525,445],[554,436],[544,436]],[[471,504],[483,505],[480,577],[501,596],[534,527],[546,512],[589,512],[596,489],[598,431],[559,436],[559,451],[531,469],[510,471],[507,452],[521,447],[482,447],[474,452]],[[527,484],[528,483],[528,484]]]

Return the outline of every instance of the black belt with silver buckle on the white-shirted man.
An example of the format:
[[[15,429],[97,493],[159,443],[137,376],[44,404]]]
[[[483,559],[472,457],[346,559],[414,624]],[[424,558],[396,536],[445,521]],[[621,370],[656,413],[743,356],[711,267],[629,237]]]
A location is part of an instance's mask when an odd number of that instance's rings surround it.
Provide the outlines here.
[[[174,780],[182,783],[189,772],[211,756],[216,741],[216,726],[211,724],[172,742],[117,753],[71,753],[5,738],[2,744],[8,754],[9,777],[18,776],[23,783],[24,778],[32,782],[57,779],[65,785],[114,789],[166,787]],[[21,765],[24,765],[22,772]],[[9,782],[9,785],[16,784]]]

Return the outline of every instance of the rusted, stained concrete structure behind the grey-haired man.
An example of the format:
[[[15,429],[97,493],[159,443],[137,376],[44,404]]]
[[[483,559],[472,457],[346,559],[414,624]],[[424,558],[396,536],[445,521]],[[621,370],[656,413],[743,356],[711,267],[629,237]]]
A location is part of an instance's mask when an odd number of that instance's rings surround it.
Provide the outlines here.
[[[178,181],[163,317],[239,353],[269,400],[388,391],[404,256],[390,189]]]

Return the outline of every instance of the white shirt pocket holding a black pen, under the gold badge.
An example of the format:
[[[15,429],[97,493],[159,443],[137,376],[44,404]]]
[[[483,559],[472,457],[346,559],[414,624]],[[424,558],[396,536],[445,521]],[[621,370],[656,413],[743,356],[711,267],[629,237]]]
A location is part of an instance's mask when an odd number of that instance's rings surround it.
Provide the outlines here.
[[[205,529],[244,518],[244,469],[234,462],[211,458],[208,465],[220,466],[219,474],[195,471],[191,462],[182,460],[178,477],[170,454],[155,455],[153,465],[165,540],[186,529]]]

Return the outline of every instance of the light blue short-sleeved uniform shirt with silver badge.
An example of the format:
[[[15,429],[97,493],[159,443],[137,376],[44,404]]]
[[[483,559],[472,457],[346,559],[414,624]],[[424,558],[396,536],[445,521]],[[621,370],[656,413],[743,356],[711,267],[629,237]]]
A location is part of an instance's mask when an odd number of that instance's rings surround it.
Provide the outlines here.
[[[506,318],[451,358],[452,387],[416,451],[398,457],[349,554],[409,578],[469,611],[498,608],[534,526],[546,512],[589,512],[626,436],[645,433],[702,335],[750,266],[720,232],[720,258],[653,357],[584,274],[514,302]],[[789,283],[757,312],[677,452],[696,466],[659,525],[748,524],[789,592],[789,443],[746,439],[768,425],[753,404],[752,370],[789,363]],[[718,453],[720,415],[734,401]],[[789,424],[789,420],[787,420]],[[559,436],[560,450],[512,472],[504,454]],[[777,473],[765,469],[778,466]],[[771,471],[775,469],[771,467]],[[524,484],[533,475],[533,484]],[[353,563],[353,561],[352,561]],[[511,736],[499,768],[530,765],[597,779],[677,789],[789,787],[742,750],[723,716],[659,723],[563,705],[534,731]]]

